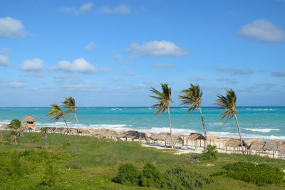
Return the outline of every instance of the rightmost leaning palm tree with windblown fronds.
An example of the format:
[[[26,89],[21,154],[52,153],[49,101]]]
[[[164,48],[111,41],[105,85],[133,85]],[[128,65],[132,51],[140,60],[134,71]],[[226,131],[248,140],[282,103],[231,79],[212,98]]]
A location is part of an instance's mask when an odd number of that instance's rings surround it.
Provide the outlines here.
[[[227,120],[231,120],[232,117],[234,117],[236,119],[237,122],[237,129],[239,130],[239,137],[240,137],[240,141],[242,144],[242,154],[244,154],[244,147],[243,147],[243,143],[242,143],[242,134],[240,132],[239,129],[239,122],[237,121],[237,110],[236,110],[236,101],[237,101],[237,96],[234,93],[234,90],[232,90],[231,88],[229,90],[227,90],[227,88],[225,88],[225,90],[227,91],[227,96],[224,97],[221,94],[218,94],[217,97],[218,99],[216,100],[216,105],[219,105],[223,110],[221,115],[219,116],[221,119],[219,119],[219,121],[223,120],[224,117],[227,117],[227,119],[224,121],[224,125],[226,124]]]

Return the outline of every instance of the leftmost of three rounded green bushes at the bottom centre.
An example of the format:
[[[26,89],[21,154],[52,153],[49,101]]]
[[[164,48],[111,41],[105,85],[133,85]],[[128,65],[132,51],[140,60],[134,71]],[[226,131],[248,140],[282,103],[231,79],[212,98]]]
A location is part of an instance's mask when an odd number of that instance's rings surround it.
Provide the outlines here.
[[[133,164],[121,164],[115,182],[125,185],[138,185],[140,173]]]

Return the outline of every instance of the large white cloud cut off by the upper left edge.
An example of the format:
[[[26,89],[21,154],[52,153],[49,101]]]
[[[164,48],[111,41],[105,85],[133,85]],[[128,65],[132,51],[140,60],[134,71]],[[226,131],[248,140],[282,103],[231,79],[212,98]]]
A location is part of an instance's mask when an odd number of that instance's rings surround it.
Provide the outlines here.
[[[0,19],[0,38],[23,38],[24,25],[17,19],[6,17]]]

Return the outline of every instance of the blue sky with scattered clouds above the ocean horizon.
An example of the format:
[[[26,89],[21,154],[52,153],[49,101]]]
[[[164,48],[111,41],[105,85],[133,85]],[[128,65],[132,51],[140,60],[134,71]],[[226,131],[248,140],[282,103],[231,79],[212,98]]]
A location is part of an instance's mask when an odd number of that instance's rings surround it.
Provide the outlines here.
[[[285,0],[0,1],[0,107],[285,106]]]

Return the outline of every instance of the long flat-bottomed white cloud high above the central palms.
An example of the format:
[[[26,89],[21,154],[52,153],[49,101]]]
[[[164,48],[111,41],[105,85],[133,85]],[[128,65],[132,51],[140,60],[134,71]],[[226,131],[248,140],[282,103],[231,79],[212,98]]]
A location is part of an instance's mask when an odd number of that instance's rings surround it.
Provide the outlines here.
[[[143,42],[140,46],[138,43],[130,43],[127,51],[133,53],[134,56],[188,56],[187,48],[180,48],[171,41],[150,41]]]

